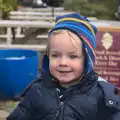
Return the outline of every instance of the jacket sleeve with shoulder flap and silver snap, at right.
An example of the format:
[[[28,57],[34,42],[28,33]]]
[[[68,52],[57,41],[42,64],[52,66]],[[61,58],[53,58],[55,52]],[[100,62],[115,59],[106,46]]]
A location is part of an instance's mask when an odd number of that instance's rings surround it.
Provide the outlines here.
[[[111,83],[99,81],[98,84],[103,92],[103,102],[99,105],[103,113],[101,116],[104,120],[120,120],[120,91]]]

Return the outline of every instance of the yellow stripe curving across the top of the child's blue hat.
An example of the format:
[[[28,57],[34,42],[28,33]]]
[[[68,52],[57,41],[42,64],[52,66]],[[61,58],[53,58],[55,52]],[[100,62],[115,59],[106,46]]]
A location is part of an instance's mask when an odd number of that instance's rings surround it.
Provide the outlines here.
[[[84,25],[86,25],[88,28],[89,28],[89,30],[93,33],[93,35],[95,36],[95,33],[94,33],[94,30],[93,30],[93,28],[92,28],[92,26],[89,24],[89,23],[87,23],[87,22],[85,22],[85,21],[83,21],[83,20],[80,20],[80,19],[77,19],[77,18],[62,18],[62,19],[60,19],[60,20],[58,20],[57,22],[56,22],[56,24],[58,24],[58,23],[60,23],[60,22],[62,22],[62,21],[75,21],[75,22],[80,22],[80,23],[83,23]]]

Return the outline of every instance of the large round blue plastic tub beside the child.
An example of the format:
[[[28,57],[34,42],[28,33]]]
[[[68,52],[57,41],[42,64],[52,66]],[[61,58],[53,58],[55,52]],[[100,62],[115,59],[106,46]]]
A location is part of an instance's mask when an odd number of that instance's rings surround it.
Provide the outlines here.
[[[0,50],[0,95],[16,99],[38,74],[38,53],[26,49]]]

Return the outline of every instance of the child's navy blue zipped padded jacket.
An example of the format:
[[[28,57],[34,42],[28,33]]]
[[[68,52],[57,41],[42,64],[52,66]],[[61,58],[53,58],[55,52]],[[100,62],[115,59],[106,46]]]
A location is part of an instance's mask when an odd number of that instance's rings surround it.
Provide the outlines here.
[[[43,73],[25,90],[17,108],[7,120],[120,120],[120,97],[115,86],[98,81],[92,72],[78,85],[64,90]]]

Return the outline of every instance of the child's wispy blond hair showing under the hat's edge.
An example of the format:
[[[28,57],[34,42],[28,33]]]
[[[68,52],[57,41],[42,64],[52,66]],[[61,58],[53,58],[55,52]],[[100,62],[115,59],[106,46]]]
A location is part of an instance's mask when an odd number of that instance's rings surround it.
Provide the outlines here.
[[[81,44],[81,39],[79,38],[79,39],[76,39],[72,34],[74,34],[73,32],[71,32],[71,31],[69,31],[69,30],[66,30],[66,29],[61,29],[61,30],[55,30],[55,31],[53,31],[49,36],[48,36],[48,43],[47,43],[47,47],[46,47],[46,53],[49,55],[49,51],[50,51],[50,39],[51,39],[51,37],[52,36],[54,36],[54,35],[56,35],[56,34],[59,34],[59,33],[62,33],[62,32],[67,32],[68,33],[68,35],[70,36],[70,40],[71,40],[71,42],[72,42],[72,44],[76,47],[76,44]],[[72,33],[72,34],[71,34]],[[72,39],[71,39],[72,38]],[[77,49],[77,47],[76,47],[76,49]]]

